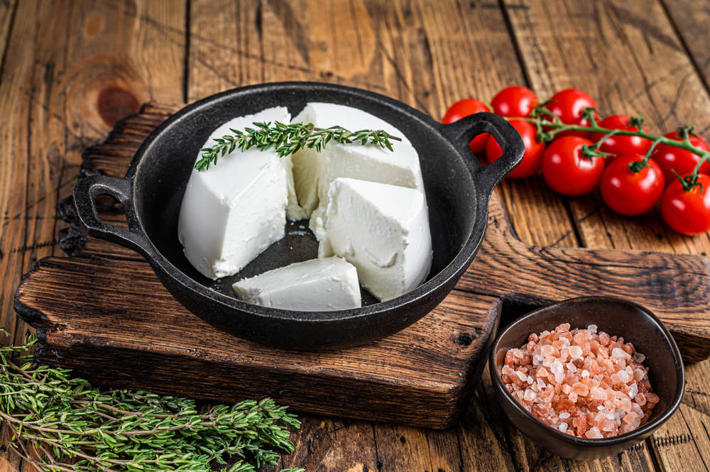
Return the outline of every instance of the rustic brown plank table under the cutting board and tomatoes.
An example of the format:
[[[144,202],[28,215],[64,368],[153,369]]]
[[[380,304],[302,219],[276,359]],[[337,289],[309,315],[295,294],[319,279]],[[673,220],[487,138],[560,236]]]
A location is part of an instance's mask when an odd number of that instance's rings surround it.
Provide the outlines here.
[[[13,294],[61,256],[56,204],[82,151],[143,102],[184,104],[259,82],[316,80],[386,94],[440,119],[464,97],[524,84],[578,87],[601,114],[641,113],[650,131],[710,133],[706,0],[0,1],[0,324]],[[657,212],[620,218],[598,192],[564,198],[535,177],[498,188],[518,236],[538,246],[708,253]],[[703,471],[710,362],[687,366],[679,411],[650,439],[601,461],[559,459],[515,430],[488,375],[457,427],[437,431],[304,416],[283,466],[308,471]],[[3,436],[3,441],[6,441]],[[29,466],[0,445],[0,471]]]

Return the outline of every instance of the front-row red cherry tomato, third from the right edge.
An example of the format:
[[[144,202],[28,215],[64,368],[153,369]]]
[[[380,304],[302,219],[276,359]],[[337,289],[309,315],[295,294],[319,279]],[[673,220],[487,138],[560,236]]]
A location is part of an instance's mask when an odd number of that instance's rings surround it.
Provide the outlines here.
[[[581,195],[596,187],[604,172],[604,158],[586,158],[583,146],[591,146],[589,139],[563,136],[547,146],[542,158],[542,177],[555,192]]]

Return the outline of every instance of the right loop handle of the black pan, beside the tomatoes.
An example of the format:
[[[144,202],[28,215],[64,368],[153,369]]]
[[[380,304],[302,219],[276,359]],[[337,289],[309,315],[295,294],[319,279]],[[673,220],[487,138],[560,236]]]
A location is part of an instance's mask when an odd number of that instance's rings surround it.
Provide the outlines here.
[[[513,125],[509,124],[502,116],[493,113],[476,113],[464,116],[459,121],[444,125],[444,133],[469,161],[469,164],[478,170],[475,178],[488,194],[493,192],[493,187],[496,187],[503,177],[506,177],[520,164],[523,154],[525,154],[525,144],[518,131],[515,131]],[[469,148],[471,140],[481,133],[491,133],[503,150],[501,158],[493,161],[487,168],[481,168],[476,155]]]

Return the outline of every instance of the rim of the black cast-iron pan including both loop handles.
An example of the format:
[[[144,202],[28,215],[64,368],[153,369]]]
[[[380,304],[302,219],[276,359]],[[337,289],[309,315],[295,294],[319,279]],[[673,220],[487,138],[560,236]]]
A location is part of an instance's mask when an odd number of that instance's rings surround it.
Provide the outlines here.
[[[295,90],[302,90],[304,88],[330,89],[350,94],[354,99],[360,97],[364,100],[374,100],[379,104],[391,107],[400,114],[407,115],[409,119],[417,121],[417,126],[432,128],[440,136],[446,138],[446,141],[450,143],[452,148],[454,148],[464,163],[466,163],[471,172],[471,178],[476,185],[476,221],[474,221],[471,234],[469,234],[469,237],[463,244],[461,251],[459,251],[457,256],[437,275],[415,288],[415,290],[393,300],[388,300],[387,302],[379,302],[366,307],[334,312],[297,312],[261,307],[209,289],[197,280],[182,273],[182,271],[176,268],[173,263],[158,251],[158,248],[155,247],[151,239],[147,236],[146,227],[143,221],[141,221],[140,215],[133,208],[133,202],[138,198],[136,189],[133,186],[133,180],[136,178],[136,175],[141,172],[141,167],[143,163],[145,163],[143,158],[151,153],[155,141],[157,141],[168,128],[179,126],[180,121],[184,119],[185,116],[202,113],[202,111],[209,109],[212,104],[218,101],[231,99],[234,95],[238,94],[251,94],[254,92],[268,93],[275,89],[284,88]],[[356,106],[357,103],[355,102],[353,105]],[[504,146],[502,146],[503,157],[494,161],[491,165],[488,165],[487,168],[483,168],[480,165],[468,146],[469,141],[480,133],[491,133],[498,143],[504,144]],[[376,319],[381,316],[386,316],[388,312],[391,312],[391,310],[395,308],[416,306],[421,299],[426,299],[434,295],[437,288],[458,280],[461,274],[464,273],[464,270],[469,267],[471,261],[476,256],[481,241],[483,241],[486,225],[488,223],[488,200],[491,197],[493,188],[520,163],[523,153],[523,141],[520,139],[520,136],[513,126],[510,126],[507,121],[494,114],[480,113],[466,116],[464,119],[452,124],[443,125],[421,111],[413,109],[407,104],[403,104],[401,101],[374,92],[320,82],[273,82],[228,90],[185,106],[180,109],[180,111],[173,114],[173,116],[170,116],[163,124],[160,124],[158,128],[155,128],[146,140],[143,141],[143,144],[141,144],[141,147],[138,148],[138,151],[136,151],[136,154],[133,156],[124,179],[114,179],[102,175],[87,177],[75,187],[74,198],[82,223],[87,227],[89,235],[104,238],[138,251],[146,257],[154,268],[160,270],[160,272],[165,274],[168,278],[179,282],[181,285],[185,286],[187,290],[195,292],[196,295],[206,297],[222,304],[224,307],[237,309],[253,317],[283,319],[300,323],[340,322],[364,317],[376,322]],[[126,211],[126,219],[129,223],[130,231],[105,224],[101,221],[93,204],[94,197],[99,194],[109,194],[121,201]],[[452,283],[451,285],[453,288]]]

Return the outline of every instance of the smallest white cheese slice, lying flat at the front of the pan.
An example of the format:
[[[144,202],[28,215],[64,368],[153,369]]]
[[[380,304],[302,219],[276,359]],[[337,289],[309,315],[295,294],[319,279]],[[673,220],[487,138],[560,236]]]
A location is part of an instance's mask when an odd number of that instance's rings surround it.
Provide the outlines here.
[[[263,307],[309,312],[361,307],[357,270],[337,257],[269,270],[232,287],[245,302]]]

